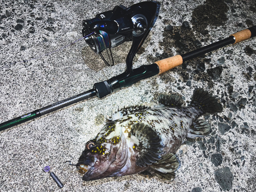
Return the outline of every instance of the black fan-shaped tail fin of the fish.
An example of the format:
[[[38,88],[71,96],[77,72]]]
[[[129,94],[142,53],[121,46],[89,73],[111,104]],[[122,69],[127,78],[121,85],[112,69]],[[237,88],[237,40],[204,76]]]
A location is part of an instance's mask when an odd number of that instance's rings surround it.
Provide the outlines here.
[[[203,115],[216,114],[222,112],[223,108],[221,103],[215,97],[203,89],[194,90],[191,98],[191,104],[196,104],[202,109]]]

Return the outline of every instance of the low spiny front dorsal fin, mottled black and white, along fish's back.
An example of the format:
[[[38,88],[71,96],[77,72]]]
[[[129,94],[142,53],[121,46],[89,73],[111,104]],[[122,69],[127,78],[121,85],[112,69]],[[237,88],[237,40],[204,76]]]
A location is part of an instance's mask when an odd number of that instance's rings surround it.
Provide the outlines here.
[[[112,116],[111,117],[107,116],[106,119],[109,121],[115,121],[115,120],[120,119],[123,116],[129,115],[131,113],[136,113],[136,112],[143,111],[146,109],[158,108],[160,106],[164,106],[164,105],[158,104],[158,103],[143,103],[141,105],[124,106],[123,108],[118,107],[118,110],[117,111],[112,110]]]

